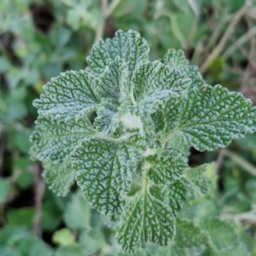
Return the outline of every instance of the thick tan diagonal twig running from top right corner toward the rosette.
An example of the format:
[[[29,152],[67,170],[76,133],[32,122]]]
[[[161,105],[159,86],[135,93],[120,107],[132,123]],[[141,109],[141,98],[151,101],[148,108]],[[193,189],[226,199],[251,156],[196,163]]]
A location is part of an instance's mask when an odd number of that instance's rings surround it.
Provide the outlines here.
[[[241,20],[243,15],[246,13],[246,10],[248,9],[248,7],[249,7],[249,1],[246,1],[246,3],[241,7],[241,9],[236,13],[236,15],[234,15],[234,18],[230,22],[220,42],[218,43],[218,45],[216,45],[214,50],[211,52],[211,54],[208,56],[208,58],[204,61],[204,63],[200,67],[201,74],[204,74],[207,68],[209,68],[209,66],[211,65],[212,61],[214,61],[219,56],[228,38],[230,37],[230,35],[232,35],[234,29],[236,28],[236,24],[239,22],[239,20]]]

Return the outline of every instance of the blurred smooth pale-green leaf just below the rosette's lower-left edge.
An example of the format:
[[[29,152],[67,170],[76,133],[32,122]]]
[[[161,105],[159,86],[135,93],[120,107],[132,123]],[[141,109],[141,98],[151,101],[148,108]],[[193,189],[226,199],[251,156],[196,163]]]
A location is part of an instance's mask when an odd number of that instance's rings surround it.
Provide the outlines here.
[[[90,228],[91,207],[84,201],[80,189],[72,195],[65,208],[64,221],[69,228]]]

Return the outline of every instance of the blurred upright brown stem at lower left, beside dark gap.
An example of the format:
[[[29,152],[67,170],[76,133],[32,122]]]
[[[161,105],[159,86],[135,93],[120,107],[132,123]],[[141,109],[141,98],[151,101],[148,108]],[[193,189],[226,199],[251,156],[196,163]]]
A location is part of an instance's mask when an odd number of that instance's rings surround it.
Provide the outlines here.
[[[42,237],[42,200],[44,196],[45,181],[42,178],[42,165],[36,162],[33,166],[35,173],[35,216],[33,220],[32,233],[38,237]]]

